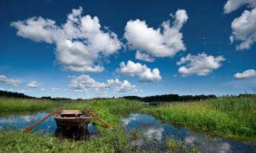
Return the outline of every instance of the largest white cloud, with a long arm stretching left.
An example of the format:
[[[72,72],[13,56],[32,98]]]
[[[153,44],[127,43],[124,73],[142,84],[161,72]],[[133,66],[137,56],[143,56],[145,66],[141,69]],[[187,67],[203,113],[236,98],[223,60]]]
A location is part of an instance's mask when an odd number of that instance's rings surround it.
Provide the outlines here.
[[[109,29],[102,30],[97,16],[82,16],[83,9],[72,10],[65,24],[58,26],[54,20],[42,17],[12,22],[17,35],[56,45],[56,61],[70,71],[100,72],[96,62],[119,50],[122,43]]]

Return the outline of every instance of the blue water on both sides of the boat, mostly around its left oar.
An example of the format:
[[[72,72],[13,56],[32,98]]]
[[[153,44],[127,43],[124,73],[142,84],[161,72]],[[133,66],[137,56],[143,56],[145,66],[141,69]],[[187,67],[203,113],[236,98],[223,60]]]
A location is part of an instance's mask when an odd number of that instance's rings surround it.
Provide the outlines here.
[[[31,125],[38,120],[44,118],[44,116],[48,115],[47,113],[37,113],[37,114],[17,114],[17,115],[10,115],[10,116],[0,116],[0,127],[1,129],[5,130],[10,127],[12,130],[22,130],[26,126]],[[33,128],[33,131],[40,131],[42,133],[55,133],[57,126],[53,116],[44,120],[40,124],[36,125]],[[89,133],[96,133],[94,130],[94,126],[89,124],[88,126]]]

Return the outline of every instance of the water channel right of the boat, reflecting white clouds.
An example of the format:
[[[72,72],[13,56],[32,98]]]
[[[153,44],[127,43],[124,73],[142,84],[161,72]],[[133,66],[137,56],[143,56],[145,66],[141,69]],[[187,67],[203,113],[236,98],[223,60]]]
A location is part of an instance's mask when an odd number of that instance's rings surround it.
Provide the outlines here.
[[[128,118],[123,118],[122,122],[128,130],[137,129],[141,135],[159,143],[165,142],[168,137],[175,137],[191,146],[196,146],[201,152],[256,152],[256,146],[251,143],[212,137],[208,133],[194,132],[187,128],[175,128],[175,126],[164,124],[149,115],[130,114]]]

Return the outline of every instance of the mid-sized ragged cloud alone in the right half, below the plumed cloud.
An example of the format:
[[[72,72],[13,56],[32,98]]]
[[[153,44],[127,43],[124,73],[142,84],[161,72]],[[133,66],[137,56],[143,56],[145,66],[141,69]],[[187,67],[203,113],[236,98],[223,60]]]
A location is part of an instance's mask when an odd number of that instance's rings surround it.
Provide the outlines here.
[[[195,56],[188,54],[186,57],[182,57],[180,61],[177,62],[177,65],[186,63],[186,66],[182,66],[178,70],[183,75],[208,75],[214,69],[221,67],[222,61],[225,61],[223,56],[208,56],[203,52]]]

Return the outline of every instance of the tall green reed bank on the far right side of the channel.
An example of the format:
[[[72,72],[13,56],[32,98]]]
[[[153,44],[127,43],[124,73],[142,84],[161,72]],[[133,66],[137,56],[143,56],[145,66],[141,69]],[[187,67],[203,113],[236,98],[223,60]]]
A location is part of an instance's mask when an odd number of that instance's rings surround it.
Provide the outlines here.
[[[160,120],[256,141],[256,97],[223,97],[142,110]]]

